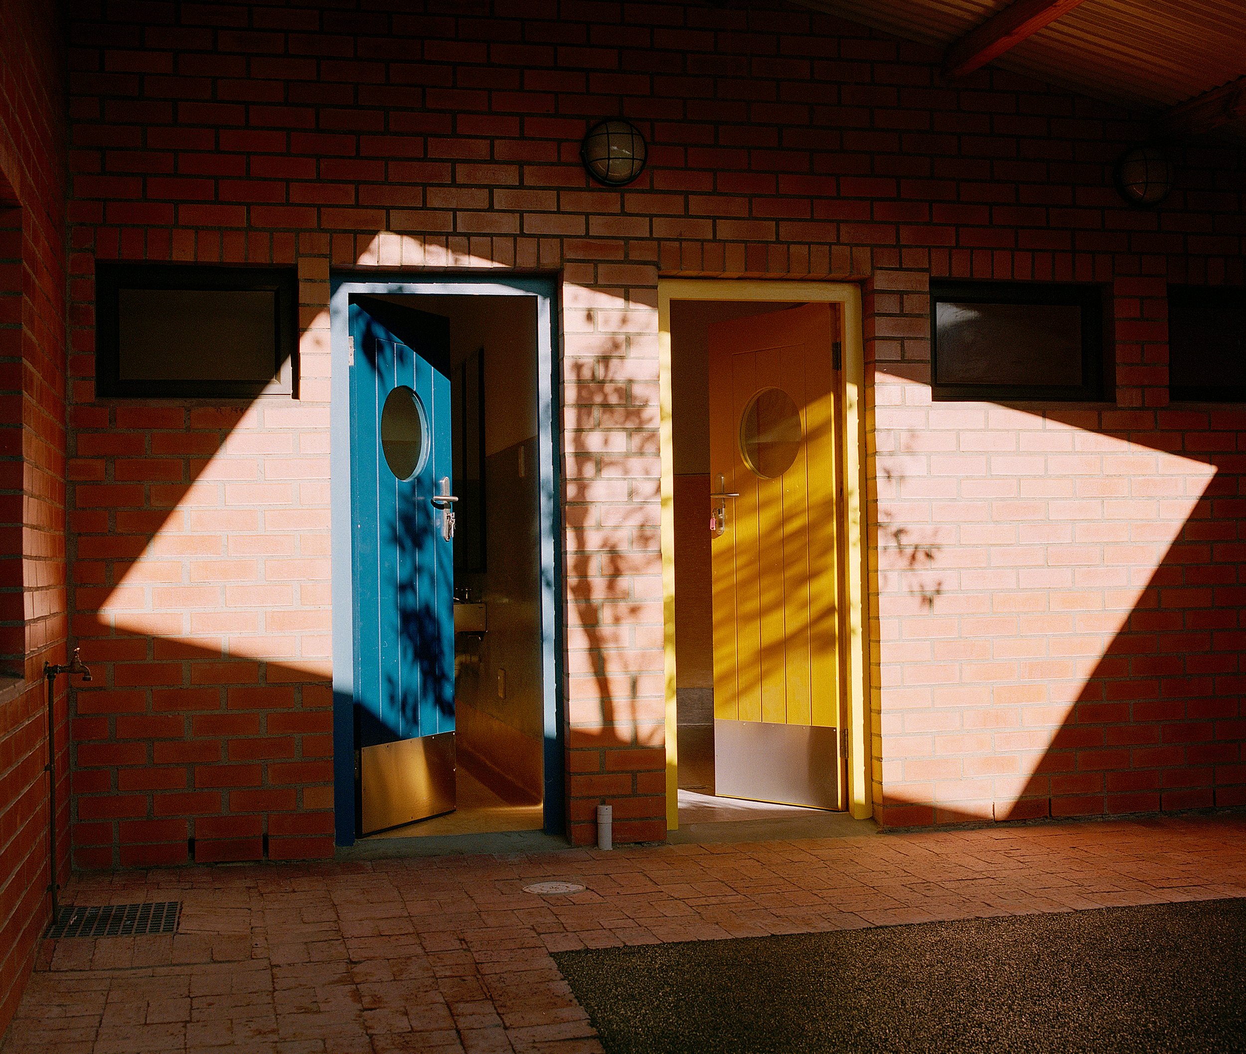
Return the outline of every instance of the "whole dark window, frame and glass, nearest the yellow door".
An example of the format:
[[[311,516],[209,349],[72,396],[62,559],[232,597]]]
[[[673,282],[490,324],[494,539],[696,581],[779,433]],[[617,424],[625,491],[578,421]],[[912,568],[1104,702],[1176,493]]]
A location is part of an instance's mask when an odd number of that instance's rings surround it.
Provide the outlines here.
[[[936,399],[1103,397],[1098,285],[931,283]]]

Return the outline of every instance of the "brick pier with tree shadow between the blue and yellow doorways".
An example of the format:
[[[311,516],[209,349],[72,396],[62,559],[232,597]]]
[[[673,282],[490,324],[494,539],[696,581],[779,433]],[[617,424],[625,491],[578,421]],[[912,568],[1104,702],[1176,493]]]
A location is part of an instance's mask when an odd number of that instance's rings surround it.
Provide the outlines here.
[[[592,313],[586,315],[592,323]],[[621,841],[665,837],[662,643],[633,640],[633,633],[662,629],[660,589],[652,597],[640,592],[660,557],[660,527],[650,522],[660,476],[638,481],[628,467],[629,457],[657,465],[658,406],[655,394],[633,382],[627,363],[622,338],[609,338],[592,358],[564,359],[564,381],[574,390],[564,400],[567,432],[624,435],[628,442],[621,451],[564,451],[568,624],[582,638],[567,653],[569,833],[577,842],[594,837],[602,797],[624,799],[614,802]],[[638,436],[645,447],[633,446]],[[618,522],[609,522],[609,513],[621,513]],[[630,751],[633,761],[619,765],[618,754],[602,750]]]

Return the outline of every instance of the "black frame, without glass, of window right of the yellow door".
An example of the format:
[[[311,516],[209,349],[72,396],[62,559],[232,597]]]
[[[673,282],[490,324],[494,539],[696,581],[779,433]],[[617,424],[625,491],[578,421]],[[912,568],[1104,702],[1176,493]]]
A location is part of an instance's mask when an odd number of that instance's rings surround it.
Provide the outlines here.
[[[1082,384],[1004,385],[938,384],[938,305],[1039,304],[1082,308]],[[1104,333],[1104,290],[1096,283],[981,282],[933,279],[931,282],[931,396],[944,402],[1101,402],[1108,390],[1110,346]]]

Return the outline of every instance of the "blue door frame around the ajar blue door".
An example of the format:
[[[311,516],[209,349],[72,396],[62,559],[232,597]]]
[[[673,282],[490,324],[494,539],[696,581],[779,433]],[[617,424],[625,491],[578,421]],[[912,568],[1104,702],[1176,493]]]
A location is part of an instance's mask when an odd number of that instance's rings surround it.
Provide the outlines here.
[[[558,471],[561,405],[554,278],[340,274],[330,279],[330,503],[333,531],[333,775],[335,841],[354,845],[355,831],[355,627],[351,546],[350,303],[353,297],[532,297],[537,310],[537,450],[541,515],[541,678],[545,720],[545,830],[566,831],[562,720],[562,478]]]

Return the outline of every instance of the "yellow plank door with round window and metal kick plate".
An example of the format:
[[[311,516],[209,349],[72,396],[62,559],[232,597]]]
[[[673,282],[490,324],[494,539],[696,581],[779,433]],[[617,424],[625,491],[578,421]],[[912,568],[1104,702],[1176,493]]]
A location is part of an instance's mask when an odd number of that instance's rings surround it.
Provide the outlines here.
[[[709,326],[715,791],[842,807],[835,308]]]

